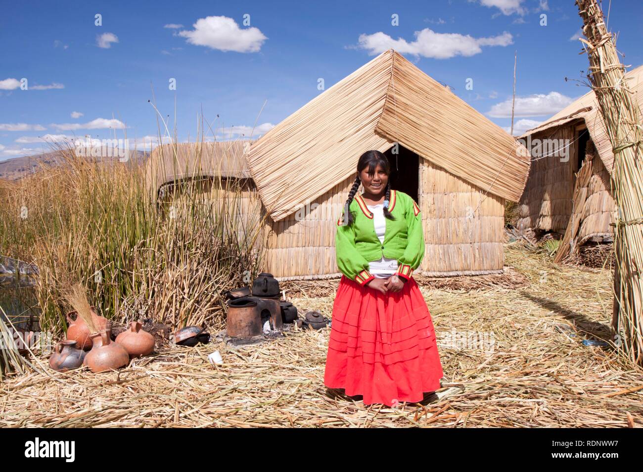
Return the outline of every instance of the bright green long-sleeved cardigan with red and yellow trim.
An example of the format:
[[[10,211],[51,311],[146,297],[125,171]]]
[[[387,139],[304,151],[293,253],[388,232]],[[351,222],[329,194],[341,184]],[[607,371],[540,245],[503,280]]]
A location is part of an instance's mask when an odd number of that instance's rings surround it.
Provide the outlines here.
[[[379,261],[382,256],[397,259],[395,274],[410,279],[424,257],[424,231],[420,209],[409,195],[391,190],[388,210],[395,220],[386,218],[384,242],[375,232],[373,214],[361,195],[350,202],[352,225],[343,225],[344,214],[337,221],[335,254],[342,274],[365,285],[374,279],[368,272],[368,261]]]

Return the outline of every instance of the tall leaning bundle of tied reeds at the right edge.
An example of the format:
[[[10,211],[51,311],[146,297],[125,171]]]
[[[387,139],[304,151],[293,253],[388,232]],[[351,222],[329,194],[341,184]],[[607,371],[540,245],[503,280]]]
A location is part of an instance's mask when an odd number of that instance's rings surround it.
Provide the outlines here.
[[[633,99],[624,66],[608,33],[596,0],[577,0],[583,19],[581,39],[590,60],[588,77],[596,94],[614,152],[612,186],[617,204],[614,251],[613,325],[622,347],[643,363],[643,152],[640,110]]]

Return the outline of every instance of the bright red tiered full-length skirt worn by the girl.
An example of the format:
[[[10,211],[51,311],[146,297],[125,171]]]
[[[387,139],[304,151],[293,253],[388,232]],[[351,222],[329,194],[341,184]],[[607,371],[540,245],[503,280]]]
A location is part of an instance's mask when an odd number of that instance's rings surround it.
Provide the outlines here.
[[[386,295],[342,275],[332,307],[324,385],[363,403],[418,402],[444,376],[429,309],[413,278]]]

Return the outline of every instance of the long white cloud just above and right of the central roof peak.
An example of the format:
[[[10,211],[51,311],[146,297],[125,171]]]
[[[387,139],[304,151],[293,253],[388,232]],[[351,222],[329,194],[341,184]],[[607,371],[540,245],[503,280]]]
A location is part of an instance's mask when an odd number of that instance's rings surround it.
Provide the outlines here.
[[[513,42],[511,33],[507,31],[494,37],[474,38],[459,33],[436,33],[429,28],[424,28],[422,31],[415,31],[414,35],[415,40],[407,42],[402,38],[393,39],[381,31],[372,35],[362,34],[359,35],[358,47],[368,49],[370,55],[393,48],[399,53],[448,59],[454,56],[468,57],[482,53],[482,46],[508,46]]]

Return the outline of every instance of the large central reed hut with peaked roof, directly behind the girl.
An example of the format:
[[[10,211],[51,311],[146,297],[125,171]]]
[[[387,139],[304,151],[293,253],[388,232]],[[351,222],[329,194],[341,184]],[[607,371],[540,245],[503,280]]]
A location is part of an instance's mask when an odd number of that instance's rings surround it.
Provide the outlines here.
[[[422,210],[422,274],[502,273],[505,201],[520,198],[527,150],[393,49],[247,149],[263,270],[280,280],[341,275],[335,225],[359,156],[371,149],[388,155],[392,187]]]

